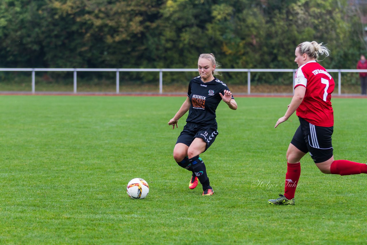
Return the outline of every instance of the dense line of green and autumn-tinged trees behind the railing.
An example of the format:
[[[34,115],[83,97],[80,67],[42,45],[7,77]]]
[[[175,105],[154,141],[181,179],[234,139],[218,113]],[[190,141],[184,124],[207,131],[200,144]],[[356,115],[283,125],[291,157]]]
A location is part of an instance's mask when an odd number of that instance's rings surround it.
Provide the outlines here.
[[[361,11],[348,0],[2,0],[0,67],[195,68],[214,53],[222,68],[296,68],[295,46],[315,40],[331,50],[323,66],[351,69],[366,53]]]

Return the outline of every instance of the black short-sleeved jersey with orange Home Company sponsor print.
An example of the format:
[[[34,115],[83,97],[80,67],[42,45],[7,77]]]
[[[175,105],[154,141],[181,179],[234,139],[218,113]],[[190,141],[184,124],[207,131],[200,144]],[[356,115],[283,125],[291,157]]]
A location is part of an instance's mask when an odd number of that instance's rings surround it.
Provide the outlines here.
[[[207,83],[204,83],[200,76],[193,78],[187,93],[191,107],[186,122],[199,123],[216,129],[215,110],[222,100],[219,93],[224,95],[224,90],[229,90],[227,85],[215,77]]]

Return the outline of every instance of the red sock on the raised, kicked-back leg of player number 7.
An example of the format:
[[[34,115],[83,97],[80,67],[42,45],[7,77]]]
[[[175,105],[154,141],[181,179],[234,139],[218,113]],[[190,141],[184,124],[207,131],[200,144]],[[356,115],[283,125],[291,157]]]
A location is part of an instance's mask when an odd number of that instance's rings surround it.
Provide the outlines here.
[[[351,162],[348,160],[336,160],[330,165],[332,174],[350,175],[367,173],[367,165],[359,162]]]

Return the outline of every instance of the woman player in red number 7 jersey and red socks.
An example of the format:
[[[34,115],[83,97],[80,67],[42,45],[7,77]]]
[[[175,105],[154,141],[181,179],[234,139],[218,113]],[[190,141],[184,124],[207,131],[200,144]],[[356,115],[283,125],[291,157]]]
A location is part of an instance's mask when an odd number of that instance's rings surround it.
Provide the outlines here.
[[[294,205],[294,193],[301,173],[301,158],[310,152],[313,161],[321,172],[326,174],[367,173],[367,165],[347,160],[334,160],[331,135],[334,115],[331,107],[331,93],[334,79],[319,65],[319,54],[329,55],[329,50],[317,42],[303,42],[296,47],[294,96],[286,114],[275,124],[285,122],[296,111],[300,126],[296,130],[287,150],[287,173],[284,195],[270,199],[275,205]]]

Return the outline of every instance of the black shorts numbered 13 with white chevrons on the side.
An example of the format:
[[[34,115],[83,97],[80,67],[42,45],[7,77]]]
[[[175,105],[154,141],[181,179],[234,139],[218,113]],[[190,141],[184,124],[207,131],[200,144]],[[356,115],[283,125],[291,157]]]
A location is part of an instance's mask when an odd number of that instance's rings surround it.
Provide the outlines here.
[[[215,137],[218,135],[218,130],[214,127],[203,126],[197,123],[188,122],[183,127],[181,134],[177,138],[177,143],[183,143],[190,146],[195,138],[202,138],[206,143],[205,151],[213,144]]]

